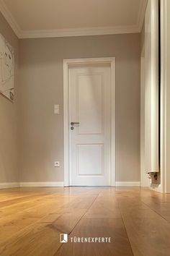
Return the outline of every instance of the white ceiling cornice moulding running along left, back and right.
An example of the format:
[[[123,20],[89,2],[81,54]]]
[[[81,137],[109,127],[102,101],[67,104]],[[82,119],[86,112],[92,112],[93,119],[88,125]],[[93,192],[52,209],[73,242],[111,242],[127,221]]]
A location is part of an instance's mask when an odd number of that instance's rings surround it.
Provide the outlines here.
[[[66,36],[82,36],[82,35],[114,35],[125,33],[140,33],[146,11],[148,0],[140,0],[140,10],[138,14],[138,24],[135,26],[115,26],[115,27],[82,27],[73,29],[58,30],[21,30],[16,20],[9,12],[4,0],[0,0],[0,11],[4,15],[6,21],[14,30],[18,38],[55,38]]]

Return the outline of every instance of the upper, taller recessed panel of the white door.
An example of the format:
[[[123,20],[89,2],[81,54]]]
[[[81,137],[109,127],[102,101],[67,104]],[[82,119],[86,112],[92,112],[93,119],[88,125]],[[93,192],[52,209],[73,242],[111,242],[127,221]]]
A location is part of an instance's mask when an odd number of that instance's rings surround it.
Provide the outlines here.
[[[79,74],[76,90],[79,134],[102,133],[102,74]]]

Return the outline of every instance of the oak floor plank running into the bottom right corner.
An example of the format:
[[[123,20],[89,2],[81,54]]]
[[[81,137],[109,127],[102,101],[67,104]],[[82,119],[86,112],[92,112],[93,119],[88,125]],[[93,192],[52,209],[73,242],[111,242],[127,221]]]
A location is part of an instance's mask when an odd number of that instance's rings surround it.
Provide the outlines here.
[[[135,256],[169,255],[168,221],[137,200],[120,200],[120,211]]]

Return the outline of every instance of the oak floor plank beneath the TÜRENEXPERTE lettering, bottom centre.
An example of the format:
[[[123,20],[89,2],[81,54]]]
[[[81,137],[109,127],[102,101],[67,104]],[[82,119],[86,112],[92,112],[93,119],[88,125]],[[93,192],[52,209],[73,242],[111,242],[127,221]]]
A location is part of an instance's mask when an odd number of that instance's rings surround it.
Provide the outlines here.
[[[133,256],[121,218],[82,218],[71,237],[111,237],[110,243],[66,243],[55,256]]]

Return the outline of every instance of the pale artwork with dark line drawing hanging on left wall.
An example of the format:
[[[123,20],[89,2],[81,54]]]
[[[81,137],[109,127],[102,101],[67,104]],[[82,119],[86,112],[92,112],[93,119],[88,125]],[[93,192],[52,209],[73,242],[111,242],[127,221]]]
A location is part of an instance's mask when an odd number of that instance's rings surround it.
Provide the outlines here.
[[[0,93],[14,101],[14,50],[0,34]]]

